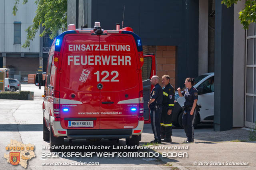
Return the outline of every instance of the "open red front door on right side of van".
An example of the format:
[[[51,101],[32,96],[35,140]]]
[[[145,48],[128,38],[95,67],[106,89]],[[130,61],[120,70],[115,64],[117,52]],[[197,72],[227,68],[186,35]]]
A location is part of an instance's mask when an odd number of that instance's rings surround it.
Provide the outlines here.
[[[153,86],[150,79],[156,74],[156,60],[154,54],[144,55],[144,64],[142,66],[142,82],[143,82],[143,99],[144,99],[144,123],[151,123],[150,110],[148,109],[148,101]]]

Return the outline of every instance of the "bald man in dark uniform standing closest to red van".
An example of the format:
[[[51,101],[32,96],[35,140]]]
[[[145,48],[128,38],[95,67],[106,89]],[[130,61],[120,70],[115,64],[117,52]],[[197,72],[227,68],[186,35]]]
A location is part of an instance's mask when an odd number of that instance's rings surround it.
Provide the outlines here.
[[[154,85],[150,93],[150,101],[148,102],[148,108],[150,109],[151,127],[154,133],[155,139],[151,143],[161,143],[160,136],[160,119],[162,113],[162,101],[163,101],[163,89],[158,84],[160,78],[156,75],[152,76],[150,83]]]

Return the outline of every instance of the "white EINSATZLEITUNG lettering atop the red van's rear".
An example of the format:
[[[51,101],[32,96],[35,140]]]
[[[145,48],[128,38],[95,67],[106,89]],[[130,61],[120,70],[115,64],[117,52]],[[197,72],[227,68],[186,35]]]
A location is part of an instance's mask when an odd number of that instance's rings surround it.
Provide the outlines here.
[[[69,44],[68,51],[130,51],[124,44]]]

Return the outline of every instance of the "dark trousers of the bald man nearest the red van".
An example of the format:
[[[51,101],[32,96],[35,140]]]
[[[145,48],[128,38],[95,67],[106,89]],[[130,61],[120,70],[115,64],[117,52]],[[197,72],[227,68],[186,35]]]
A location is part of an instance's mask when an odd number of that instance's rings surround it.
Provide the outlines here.
[[[154,133],[155,140],[161,141],[160,136],[160,120],[161,120],[162,106],[157,111],[150,111],[151,127]]]

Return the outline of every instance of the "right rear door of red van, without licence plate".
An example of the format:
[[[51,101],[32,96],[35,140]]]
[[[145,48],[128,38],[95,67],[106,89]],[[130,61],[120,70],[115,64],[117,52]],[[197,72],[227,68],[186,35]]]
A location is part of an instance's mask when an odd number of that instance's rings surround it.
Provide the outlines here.
[[[100,128],[135,128],[138,125],[139,74],[136,44],[127,34],[100,36]]]

